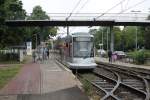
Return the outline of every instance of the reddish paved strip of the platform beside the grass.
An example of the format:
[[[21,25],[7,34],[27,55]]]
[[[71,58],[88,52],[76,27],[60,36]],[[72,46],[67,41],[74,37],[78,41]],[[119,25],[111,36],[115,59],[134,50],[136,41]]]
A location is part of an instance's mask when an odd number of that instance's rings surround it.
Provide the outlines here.
[[[0,90],[0,95],[40,93],[40,73],[39,64],[23,65],[18,75]]]

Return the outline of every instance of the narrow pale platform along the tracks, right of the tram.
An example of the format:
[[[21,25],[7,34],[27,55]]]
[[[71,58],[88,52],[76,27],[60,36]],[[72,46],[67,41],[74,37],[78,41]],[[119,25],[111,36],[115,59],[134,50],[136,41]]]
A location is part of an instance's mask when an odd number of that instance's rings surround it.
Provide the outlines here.
[[[102,57],[95,57],[95,61],[96,62],[109,63],[108,58],[102,58]],[[135,65],[135,64],[131,64],[131,63],[124,63],[124,62],[121,62],[121,61],[115,61],[115,62],[112,62],[112,64],[122,65],[122,66],[126,66],[126,67],[135,67],[135,68],[142,68],[142,69],[148,69],[148,70],[150,70],[150,66]]]

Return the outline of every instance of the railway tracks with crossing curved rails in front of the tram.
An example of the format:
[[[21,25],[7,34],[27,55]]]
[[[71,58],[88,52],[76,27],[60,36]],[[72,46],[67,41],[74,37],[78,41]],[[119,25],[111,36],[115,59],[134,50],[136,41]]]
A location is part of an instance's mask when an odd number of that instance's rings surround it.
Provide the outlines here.
[[[94,78],[89,79],[90,75]],[[99,64],[93,73],[80,76],[96,87],[96,93],[101,100],[150,100],[150,80],[147,72]]]

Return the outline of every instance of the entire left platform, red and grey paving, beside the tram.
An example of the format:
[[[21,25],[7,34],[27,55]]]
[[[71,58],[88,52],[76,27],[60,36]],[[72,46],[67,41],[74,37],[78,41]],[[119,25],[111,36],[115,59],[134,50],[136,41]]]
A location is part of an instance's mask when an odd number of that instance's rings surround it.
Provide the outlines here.
[[[53,58],[25,64],[0,90],[0,100],[89,100],[69,69]]]

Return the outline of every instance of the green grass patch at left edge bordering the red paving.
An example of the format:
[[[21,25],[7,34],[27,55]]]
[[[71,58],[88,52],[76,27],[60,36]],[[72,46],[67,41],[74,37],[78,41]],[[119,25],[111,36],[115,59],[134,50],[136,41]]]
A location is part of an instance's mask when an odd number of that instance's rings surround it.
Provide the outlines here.
[[[0,89],[19,72],[20,68],[21,65],[11,65],[0,69]]]

